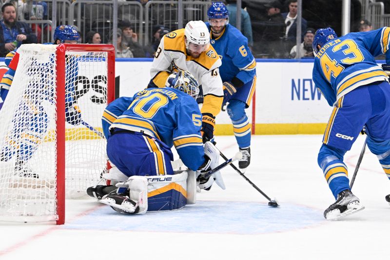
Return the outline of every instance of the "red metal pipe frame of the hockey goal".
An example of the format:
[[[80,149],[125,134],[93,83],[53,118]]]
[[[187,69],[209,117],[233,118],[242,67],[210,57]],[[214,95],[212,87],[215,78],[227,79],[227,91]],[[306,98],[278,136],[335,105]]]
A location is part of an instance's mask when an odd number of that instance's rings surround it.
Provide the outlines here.
[[[107,52],[107,104],[115,100],[115,48],[112,44],[59,44],[57,71],[57,225],[65,223],[65,53]]]

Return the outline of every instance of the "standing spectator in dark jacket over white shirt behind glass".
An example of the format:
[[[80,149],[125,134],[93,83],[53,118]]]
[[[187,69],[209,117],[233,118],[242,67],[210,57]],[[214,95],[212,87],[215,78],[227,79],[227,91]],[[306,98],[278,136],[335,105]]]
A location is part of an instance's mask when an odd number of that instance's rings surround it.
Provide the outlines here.
[[[298,17],[298,0],[289,0],[289,12],[282,13],[284,23],[286,24],[286,34],[284,36],[284,45],[286,50],[290,50],[296,44],[296,25]],[[306,31],[307,21],[302,18],[301,39]]]

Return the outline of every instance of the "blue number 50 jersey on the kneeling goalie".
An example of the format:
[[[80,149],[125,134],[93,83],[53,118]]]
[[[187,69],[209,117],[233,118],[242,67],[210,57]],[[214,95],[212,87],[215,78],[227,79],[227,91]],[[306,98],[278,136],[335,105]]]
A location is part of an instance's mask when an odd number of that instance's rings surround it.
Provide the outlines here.
[[[142,132],[168,147],[175,145],[183,163],[195,169],[203,163],[202,117],[195,99],[174,88],[149,88],[134,97],[111,102],[102,117],[107,140],[110,128]]]

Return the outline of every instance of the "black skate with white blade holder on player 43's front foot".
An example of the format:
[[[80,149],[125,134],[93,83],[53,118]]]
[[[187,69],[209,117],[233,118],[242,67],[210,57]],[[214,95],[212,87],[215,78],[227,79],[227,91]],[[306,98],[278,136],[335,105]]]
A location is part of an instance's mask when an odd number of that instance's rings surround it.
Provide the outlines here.
[[[350,190],[344,190],[337,194],[336,202],[325,210],[324,217],[326,220],[339,220],[363,209],[359,199]]]

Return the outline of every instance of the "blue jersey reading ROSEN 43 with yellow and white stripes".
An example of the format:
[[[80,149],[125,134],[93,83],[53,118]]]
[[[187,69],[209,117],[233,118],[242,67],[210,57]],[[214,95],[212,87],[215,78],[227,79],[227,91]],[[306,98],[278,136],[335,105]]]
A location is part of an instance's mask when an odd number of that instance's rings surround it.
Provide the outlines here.
[[[389,40],[390,27],[383,27],[350,33],[322,46],[314,60],[312,77],[329,105],[359,86],[388,80],[374,57],[386,54],[386,62],[390,63]]]

